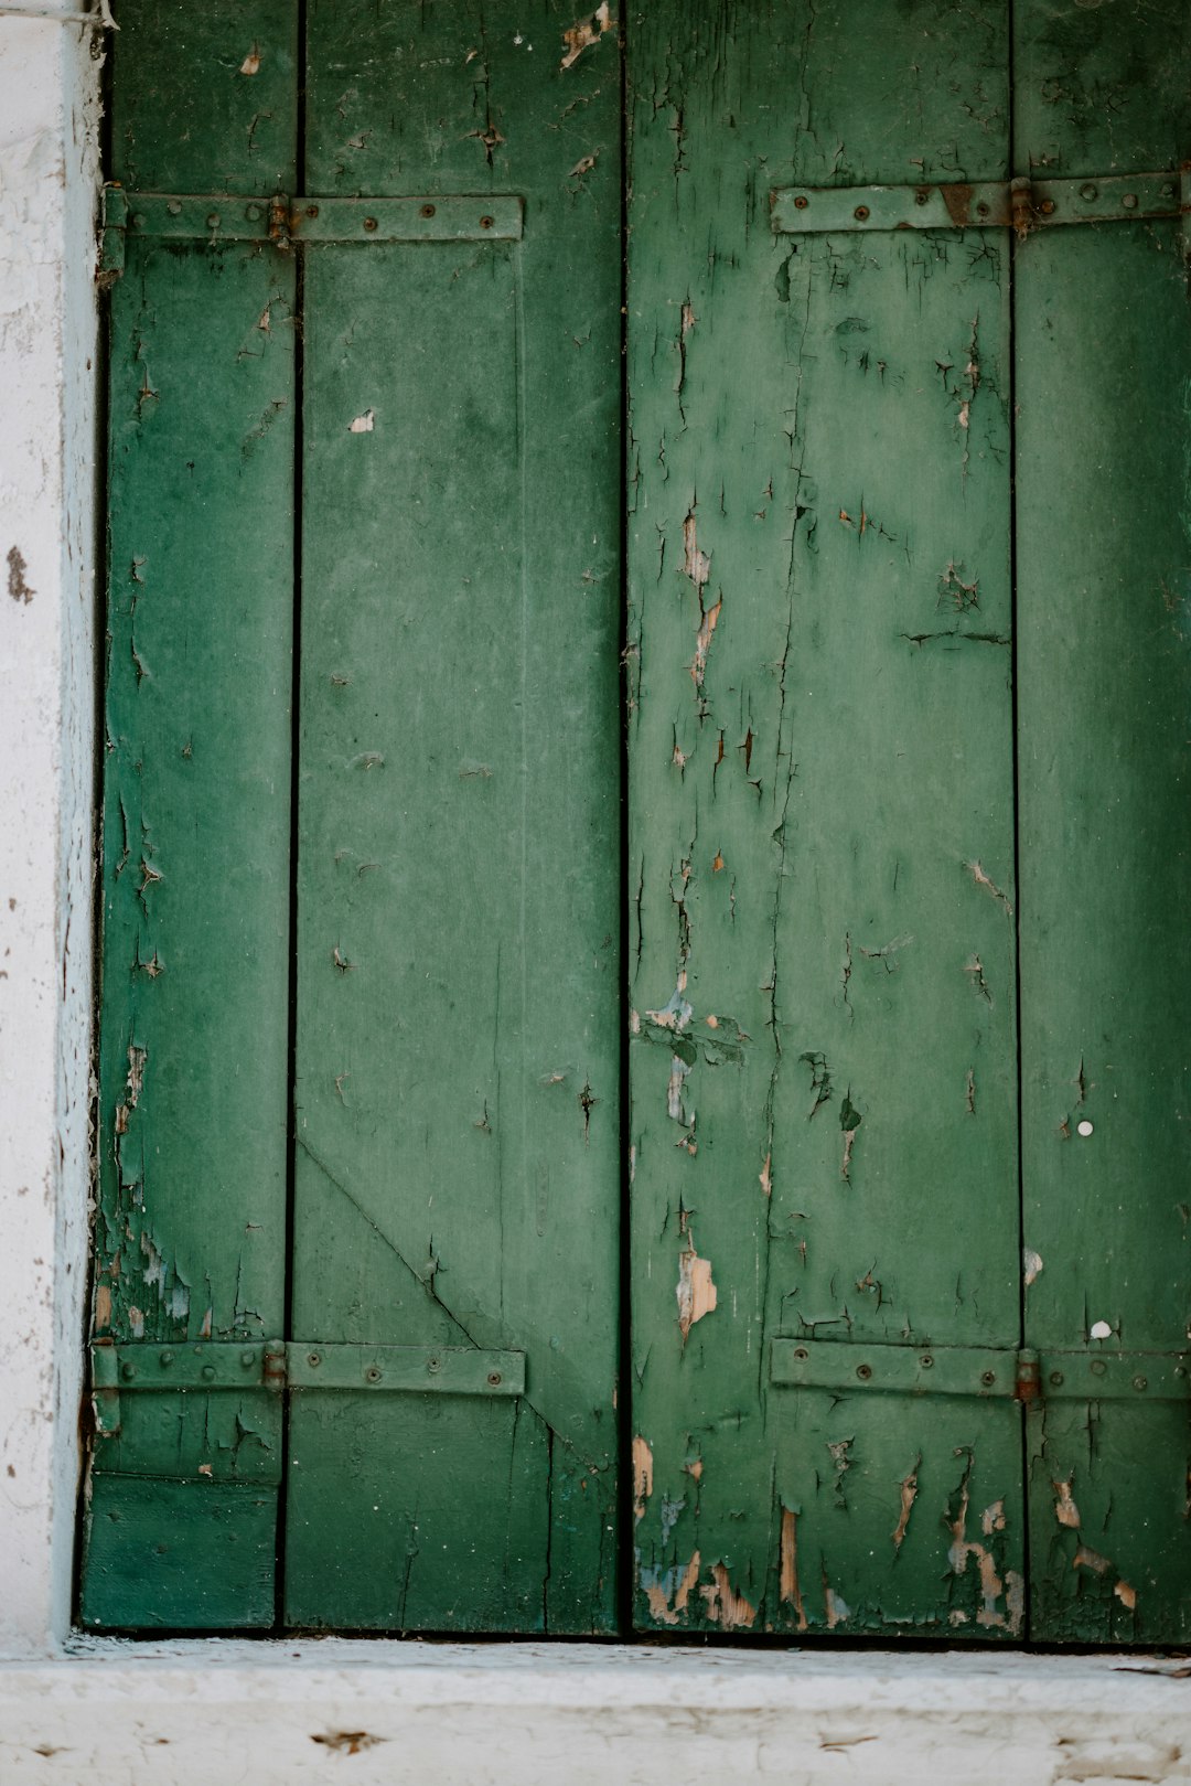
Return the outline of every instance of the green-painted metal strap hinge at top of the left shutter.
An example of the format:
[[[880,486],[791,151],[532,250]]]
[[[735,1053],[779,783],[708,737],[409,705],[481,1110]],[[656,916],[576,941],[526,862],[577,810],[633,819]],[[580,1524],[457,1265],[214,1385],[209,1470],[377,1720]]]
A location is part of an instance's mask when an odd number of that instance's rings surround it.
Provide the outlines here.
[[[130,239],[259,243],[280,250],[325,243],[520,241],[525,200],[511,195],[291,198],[229,193],[127,193],[104,188],[100,284],[123,273]]]

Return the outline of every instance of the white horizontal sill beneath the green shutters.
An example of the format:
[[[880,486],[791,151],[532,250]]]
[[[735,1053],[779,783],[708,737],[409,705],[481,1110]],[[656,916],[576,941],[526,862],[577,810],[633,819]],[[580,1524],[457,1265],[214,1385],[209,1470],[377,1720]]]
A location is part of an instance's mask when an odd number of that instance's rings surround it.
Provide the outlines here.
[[[77,1638],[0,1663],[0,1781],[1191,1781],[1168,1657]]]

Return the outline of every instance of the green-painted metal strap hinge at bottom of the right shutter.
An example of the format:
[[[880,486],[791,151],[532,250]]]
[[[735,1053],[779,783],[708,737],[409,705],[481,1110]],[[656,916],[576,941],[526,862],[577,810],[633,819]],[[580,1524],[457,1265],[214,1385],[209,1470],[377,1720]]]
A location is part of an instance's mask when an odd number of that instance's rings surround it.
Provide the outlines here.
[[[975,1395],[1018,1400],[1182,1402],[1191,1397],[1191,1352],[1036,1352],[998,1347],[864,1345],[775,1340],[770,1382],[836,1395]]]

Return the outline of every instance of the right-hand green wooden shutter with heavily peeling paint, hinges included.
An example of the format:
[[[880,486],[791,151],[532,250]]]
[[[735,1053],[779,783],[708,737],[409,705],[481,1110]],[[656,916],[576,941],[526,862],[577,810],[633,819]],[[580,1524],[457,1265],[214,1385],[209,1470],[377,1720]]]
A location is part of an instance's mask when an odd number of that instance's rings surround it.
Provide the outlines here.
[[[1187,1634],[1159,13],[630,32],[648,1629]]]

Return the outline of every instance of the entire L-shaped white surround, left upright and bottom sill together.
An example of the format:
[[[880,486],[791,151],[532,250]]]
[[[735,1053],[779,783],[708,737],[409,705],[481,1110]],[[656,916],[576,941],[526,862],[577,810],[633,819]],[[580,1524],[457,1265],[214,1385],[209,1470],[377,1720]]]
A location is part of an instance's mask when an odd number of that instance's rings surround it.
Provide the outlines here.
[[[71,1636],[96,752],[93,43],[0,4],[0,1782],[1191,1781],[1191,1684],[1139,1656]]]

